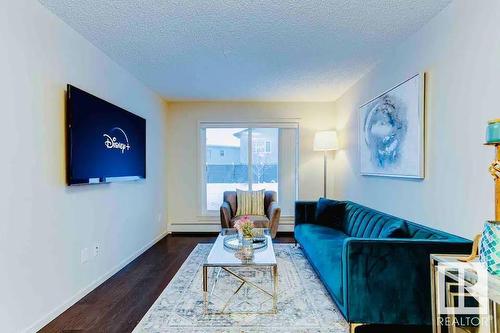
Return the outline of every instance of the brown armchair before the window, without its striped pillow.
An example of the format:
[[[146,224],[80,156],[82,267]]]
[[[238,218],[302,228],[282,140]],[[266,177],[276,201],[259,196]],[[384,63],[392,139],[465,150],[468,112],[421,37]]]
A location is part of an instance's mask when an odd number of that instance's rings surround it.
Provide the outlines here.
[[[235,216],[238,200],[236,191],[224,192],[224,202],[220,207],[220,223],[222,228],[232,228],[239,216]],[[266,215],[250,215],[249,218],[258,228],[269,228],[271,237],[276,237],[280,221],[281,208],[278,206],[277,194],[274,191],[264,193],[264,212]]]

